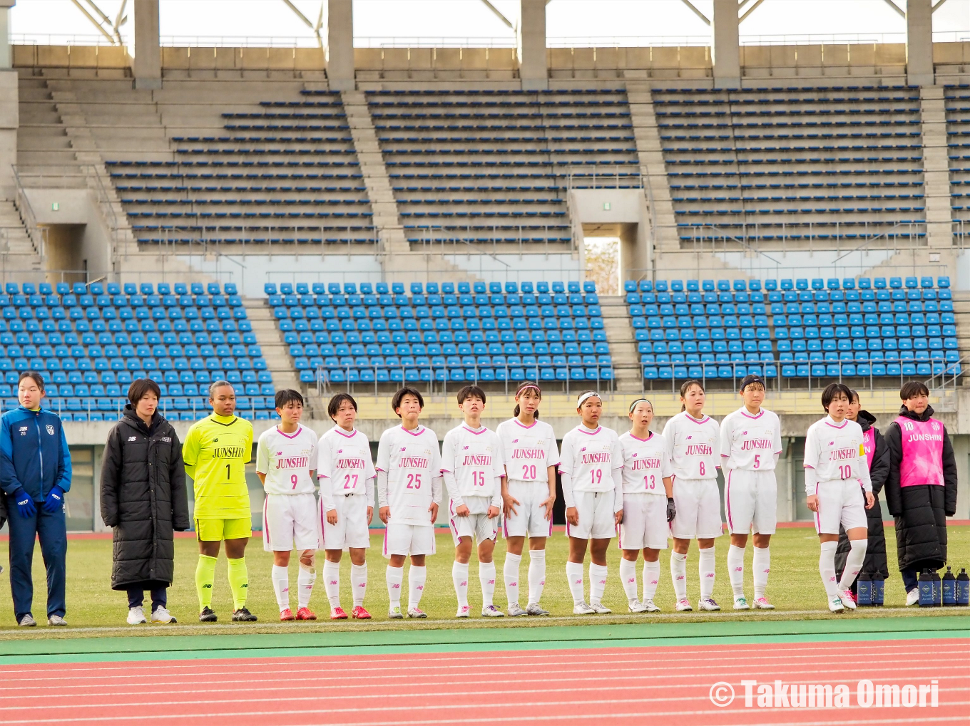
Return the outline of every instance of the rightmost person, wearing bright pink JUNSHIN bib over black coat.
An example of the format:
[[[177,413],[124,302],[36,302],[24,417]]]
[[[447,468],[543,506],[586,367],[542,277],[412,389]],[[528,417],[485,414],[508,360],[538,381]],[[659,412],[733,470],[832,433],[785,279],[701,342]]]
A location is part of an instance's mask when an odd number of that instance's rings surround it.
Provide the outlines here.
[[[956,514],[956,459],[947,427],[933,418],[926,386],[910,381],[899,397],[899,416],[886,430],[886,504],[895,518],[906,604],[916,605],[918,573],[935,572],[947,562],[947,517]]]

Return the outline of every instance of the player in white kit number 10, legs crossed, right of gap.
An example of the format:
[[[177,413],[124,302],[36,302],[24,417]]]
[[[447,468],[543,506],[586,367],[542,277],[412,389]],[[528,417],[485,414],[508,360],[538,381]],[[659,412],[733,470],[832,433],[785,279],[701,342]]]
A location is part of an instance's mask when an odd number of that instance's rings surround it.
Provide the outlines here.
[[[846,591],[856,580],[868,548],[869,530],[865,510],[876,502],[869,479],[862,427],[846,418],[852,391],[831,383],[822,392],[822,407],[828,413],[809,426],[805,434],[805,495],[815,513],[821,553],[819,573],[828,598],[828,610],[842,613],[856,610],[856,600]],[[842,580],[835,581],[835,550],[839,525],[845,527],[852,548],[846,558]]]

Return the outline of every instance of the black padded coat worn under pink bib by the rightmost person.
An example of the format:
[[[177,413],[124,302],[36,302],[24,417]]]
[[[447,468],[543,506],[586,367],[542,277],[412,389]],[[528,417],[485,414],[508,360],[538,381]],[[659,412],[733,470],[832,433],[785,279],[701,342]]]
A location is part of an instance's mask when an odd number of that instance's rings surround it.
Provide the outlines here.
[[[926,421],[933,415],[927,406],[922,415],[905,406],[899,415],[913,421]],[[947,517],[956,514],[956,458],[954,446],[943,426],[943,486],[899,486],[902,456],[902,431],[896,423],[886,429],[889,449],[889,477],[886,480],[886,505],[896,521],[896,554],[899,569],[931,567],[940,569],[947,562]]]

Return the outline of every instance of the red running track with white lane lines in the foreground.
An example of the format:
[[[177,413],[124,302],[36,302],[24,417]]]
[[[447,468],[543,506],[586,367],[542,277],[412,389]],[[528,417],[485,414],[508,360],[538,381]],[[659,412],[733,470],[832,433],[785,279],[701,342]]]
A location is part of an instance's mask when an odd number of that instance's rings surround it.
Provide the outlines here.
[[[2,724],[787,726],[970,722],[970,639],[0,667]],[[742,679],[846,683],[849,708],[746,708]],[[857,681],[939,706],[860,708]],[[715,707],[711,687],[737,697]],[[757,695],[757,689],[755,690]]]

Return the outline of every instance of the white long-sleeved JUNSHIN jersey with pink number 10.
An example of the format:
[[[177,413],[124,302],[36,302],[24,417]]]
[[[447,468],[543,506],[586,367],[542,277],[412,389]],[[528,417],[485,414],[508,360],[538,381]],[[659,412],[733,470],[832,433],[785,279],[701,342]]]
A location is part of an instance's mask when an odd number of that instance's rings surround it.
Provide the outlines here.
[[[863,489],[871,489],[869,466],[865,458],[862,427],[843,419],[836,424],[826,416],[808,427],[805,434],[805,468],[815,469],[817,482],[856,479]],[[869,485],[868,488],[865,485]],[[806,490],[807,490],[806,486]],[[808,493],[814,494],[815,491]]]

